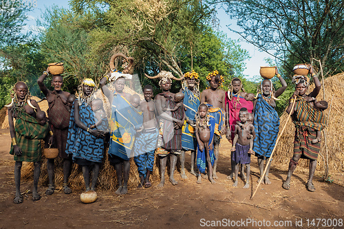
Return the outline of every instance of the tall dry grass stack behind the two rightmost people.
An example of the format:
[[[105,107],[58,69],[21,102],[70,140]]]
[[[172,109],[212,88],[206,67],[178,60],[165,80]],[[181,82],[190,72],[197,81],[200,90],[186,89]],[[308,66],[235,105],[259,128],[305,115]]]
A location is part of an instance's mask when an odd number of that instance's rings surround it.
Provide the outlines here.
[[[325,168],[325,132],[329,171],[332,173],[343,173],[344,133],[341,130],[344,126],[344,74],[337,74],[336,76],[326,78],[324,81],[325,100],[328,102],[328,108],[325,110],[327,125],[325,130],[322,131],[321,150],[316,169],[318,171],[322,171]],[[314,85],[310,86],[309,91],[312,91],[312,89],[314,89]],[[321,91],[316,100],[323,100],[323,87],[321,87]],[[281,116],[280,131],[284,127],[284,124],[286,124],[287,118],[288,114],[284,112]],[[276,162],[289,164],[290,158],[293,154],[294,131],[295,127],[290,118],[288,120],[287,127],[277,144],[277,149],[274,155],[274,160]],[[304,168],[308,167],[308,160],[300,160],[299,166]]]

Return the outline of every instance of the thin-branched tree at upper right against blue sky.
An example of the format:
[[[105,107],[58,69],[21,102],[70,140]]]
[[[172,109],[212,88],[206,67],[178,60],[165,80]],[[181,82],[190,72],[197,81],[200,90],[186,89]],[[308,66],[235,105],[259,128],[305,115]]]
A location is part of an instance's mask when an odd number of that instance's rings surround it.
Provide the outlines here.
[[[213,1],[217,2],[217,1]],[[344,1],[224,1],[246,41],[275,56],[286,72],[297,63],[316,65],[324,74],[343,71]]]

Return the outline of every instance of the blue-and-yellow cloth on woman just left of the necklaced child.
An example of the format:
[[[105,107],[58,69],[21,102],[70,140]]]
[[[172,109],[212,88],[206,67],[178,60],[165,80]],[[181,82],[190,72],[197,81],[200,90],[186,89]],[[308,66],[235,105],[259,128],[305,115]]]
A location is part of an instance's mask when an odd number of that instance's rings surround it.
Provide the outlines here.
[[[183,90],[184,106],[186,107],[185,115],[189,120],[195,121],[195,115],[200,106],[200,98],[196,97],[189,89]],[[195,128],[191,127],[186,121],[182,127],[182,148],[185,151],[194,151],[197,148]]]

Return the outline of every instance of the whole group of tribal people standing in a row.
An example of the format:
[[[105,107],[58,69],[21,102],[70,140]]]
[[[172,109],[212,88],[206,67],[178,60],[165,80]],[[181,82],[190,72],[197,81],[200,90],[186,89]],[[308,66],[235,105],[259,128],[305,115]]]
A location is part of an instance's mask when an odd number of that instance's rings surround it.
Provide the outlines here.
[[[65,194],[72,192],[68,186],[72,162],[82,166],[86,191],[95,190],[106,142],[109,142],[109,162],[117,174],[116,194],[128,192],[130,157],[134,157],[138,166],[138,188],[151,186],[149,177],[156,157],[160,162],[161,173],[158,186],[162,187],[168,157],[171,163],[171,184],[178,184],[173,177],[178,157],[181,162],[181,176],[183,179],[187,178],[184,169],[186,151],[191,151],[191,174],[197,176],[197,183],[201,183],[202,177],[206,177],[215,184],[215,179],[218,179],[216,170],[222,135],[226,135],[233,143],[232,171],[227,178],[233,179],[233,186],[237,186],[241,166],[241,178],[246,180],[244,188],[248,188],[250,156],[257,157],[261,175],[264,171],[264,161],[270,161],[279,133],[279,116],[275,110],[275,100],[287,87],[286,81],[276,68],[275,74],[281,83],[281,87],[276,91],[272,81],[264,79],[255,96],[245,92],[239,78],[233,78],[228,85],[230,89],[225,92],[219,89],[224,83],[224,78],[215,70],[206,76],[209,87],[201,94],[200,80],[196,72],[187,72],[184,77],[175,78],[171,72],[162,71],[158,76],[146,75],[148,78],[160,78],[162,92],[153,99],[153,87],[144,85],[144,100],[140,100],[138,95],[127,94],[124,91],[125,80],[130,80],[129,74],[110,72],[101,78],[99,83],[103,95],[111,105],[111,116],[107,117],[103,100],[95,96],[94,80],[85,78],[74,96],[62,90],[63,77],[60,75],[52,76],[54,90],[47,89],[43,82],[49,74],[47,68],[37,81],[49,105],[48,121],[38,103],[30,99],[28,86],[21,81],[14,85],[12,102],[7,105],[12,138],[10,153],[14,155],[15,160],[15,204],[23,202],[20,191],[22,162],[34,162],[32,200],[41,198],[37,192],[42,160],[41,140],[45,141],[45,147],[58,148],[59,157],[63,158]],[[286,189],[290,188],[291,175],[297,162],[303,157],[310,160],[307,189],[315,190],[312,179],[320,149],[319,132],[324,126],[321,124],[322,116],[316,116],[318,120],[314,120],[314,113],[319,114],[319,109],[314,106],[319,102],[314,98],[319,94],[321,83],[312,66],[310,74],[315,85],[310,94],[306,94],[310,84],[308,76],[294,75],[296,90],[286,110],[292,114],[292,120],[297,128],[294,155],[290,160],[288,177],[283,182],[283,188]],[[172,80],[182,80],[182,89],[177,94],[170,91]],[[111,88],[109,85],[114,87]],[[293,103],[294,109],[291,110]],[[195,160],[197,173],[194,168]],[[266,174],[261,177],[264,184],[271,184],[268,179],[269,170],[270,163]],[[49,184],[45,194],[52,195],[55,189],[54,159],[47,159],[47,173]],[[206,174],[201,177],[202,173]]]

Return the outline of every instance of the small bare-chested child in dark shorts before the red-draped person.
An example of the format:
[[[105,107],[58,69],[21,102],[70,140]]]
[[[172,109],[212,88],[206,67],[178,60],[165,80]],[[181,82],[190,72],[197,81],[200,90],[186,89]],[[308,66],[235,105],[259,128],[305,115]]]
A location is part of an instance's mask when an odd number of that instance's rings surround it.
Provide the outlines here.
[[[231,151],[233,151],[232,160],[235,162],[235,182],[233,184],[234,187],[237,187],[237,175],[239,172],[239,163],[246,165],[246,184],[244,188],[249,188],[249,180],[250,180],[250,154],[248,153],[250,149],[250,140],[248,140],[248,135],[252,133],[255,135],[255,127],[252,124],[248,123],[248,111],[245,107],[242,107],[239,111],[239,120],[241,122],[241,127],[236,124],[235,125],[235,137],[233,140],[233,147]]]

